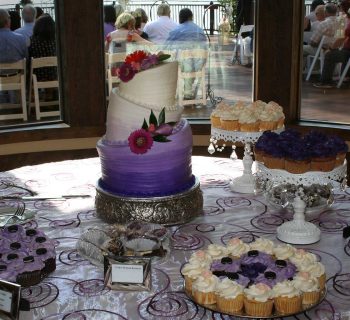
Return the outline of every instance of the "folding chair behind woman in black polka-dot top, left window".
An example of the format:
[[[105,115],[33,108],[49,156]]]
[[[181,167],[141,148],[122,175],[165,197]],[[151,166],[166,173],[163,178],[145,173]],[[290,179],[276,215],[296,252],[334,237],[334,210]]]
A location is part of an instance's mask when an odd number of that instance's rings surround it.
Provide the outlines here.
[[[54,117],[54,116],[61,115],[59,100],[40,101],[39,89],[58,88],[59,86],[58,80],[38,81],[38,78],[35,74],[35,69],[44,68],[44,67],[57,67],[57,57],[52,56],[52,57],[42,57],[42,58],[31,59],[30,85],[29,85],[29,111],[33,106],[33,103],[31,101],[32,88],[33,88],[36,120],[40,120],[42,117]],[[47,107],[47,106],[58,106],[58,110],[43,111],[41,107]]]

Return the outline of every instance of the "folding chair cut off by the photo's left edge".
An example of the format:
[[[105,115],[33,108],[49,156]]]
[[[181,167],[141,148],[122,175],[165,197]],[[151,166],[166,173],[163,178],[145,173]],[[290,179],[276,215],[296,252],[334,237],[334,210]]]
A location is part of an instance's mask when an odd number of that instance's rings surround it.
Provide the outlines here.
[[[0,110],[9,110],[6,114],[0,114],[0,120],[23,119],[27,121],[26,59],[13,63],[0,63],[0,71],[8,71],[9,74],[14,73],[14,75],[0,77],[0,91],[20,91],[21,93],[21,103],[16,101],[0,103]],[[18,73],[16,74],[16,72]],[[20,109],[20,112],[14,112],[18,109]]]

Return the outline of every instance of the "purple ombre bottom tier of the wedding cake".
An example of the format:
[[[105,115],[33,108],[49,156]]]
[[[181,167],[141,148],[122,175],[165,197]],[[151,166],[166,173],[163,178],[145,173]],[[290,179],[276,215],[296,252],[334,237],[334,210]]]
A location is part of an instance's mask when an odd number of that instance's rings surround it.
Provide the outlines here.
[[[168,139],[170,142],[154,141],[144,154],[133,153],[127,143],[99,140],[99,186],[109,193],[129,197],[167,196],[191,188],[195,178],[192,132],[187,120],[182,119]]]

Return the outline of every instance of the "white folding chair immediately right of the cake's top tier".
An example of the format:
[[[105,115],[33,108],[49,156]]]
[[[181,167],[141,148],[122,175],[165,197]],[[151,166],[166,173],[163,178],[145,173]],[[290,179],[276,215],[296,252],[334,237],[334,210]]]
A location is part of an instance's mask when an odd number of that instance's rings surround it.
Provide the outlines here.
[[[184,49],[179,50],[178,52],[178,86],[177,86],[177,95],[178,95],[178,104],[180,106],[190,105],[190,104],[207,104],[207,96],[205,89],[205,67],[208,59],[208,50],[207,49]],[[182,68],[182,64],[186,63],[186,60],[199,59],[204,61],[203,66],[198,71],[184,71]],[[190,62],[191,63],[191,62]],[[198,81],[200,87],[200,97],[194,97],[190,100],[184,100],[184,86],[185,81],[187,79],[194,79],[194,81]],[[191,81],[191,80],[190,80]]]

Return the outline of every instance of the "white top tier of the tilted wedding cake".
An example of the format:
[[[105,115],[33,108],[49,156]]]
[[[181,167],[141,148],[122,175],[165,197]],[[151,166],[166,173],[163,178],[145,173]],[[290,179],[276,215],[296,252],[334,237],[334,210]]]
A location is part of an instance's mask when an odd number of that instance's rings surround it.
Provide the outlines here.
[[[120,82],[120,96],[154,110],[175,105],[178,63],[165,62],[137,73],[129,82]]]

